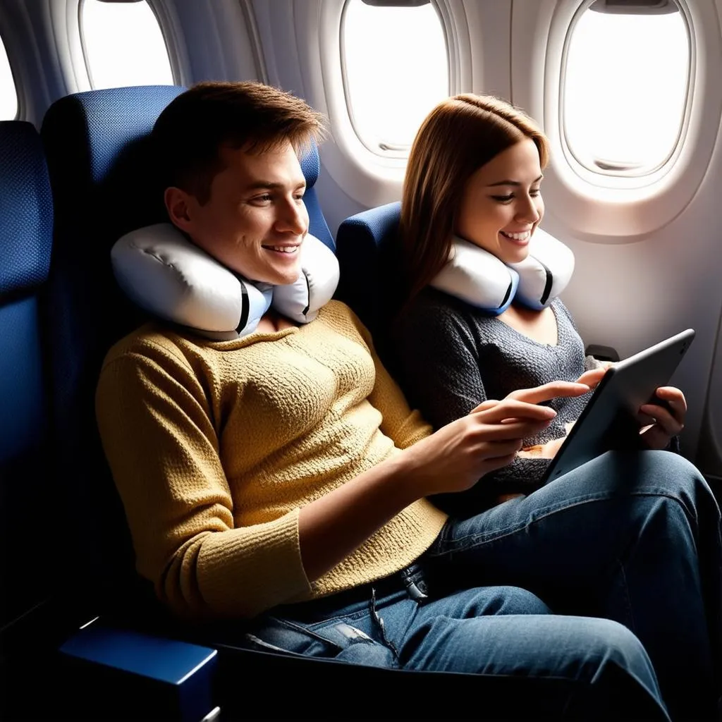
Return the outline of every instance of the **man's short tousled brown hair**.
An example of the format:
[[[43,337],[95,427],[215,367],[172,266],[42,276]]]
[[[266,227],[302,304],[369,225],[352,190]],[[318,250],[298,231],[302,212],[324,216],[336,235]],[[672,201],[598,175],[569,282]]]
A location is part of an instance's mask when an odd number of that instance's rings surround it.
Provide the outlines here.
[[[204,204],[227,145],[262,153],[289,141],[302,155],[323,137],[321,113],[290,93],[257,82],[201,82],[175,97],[152,132],[163,188]]]

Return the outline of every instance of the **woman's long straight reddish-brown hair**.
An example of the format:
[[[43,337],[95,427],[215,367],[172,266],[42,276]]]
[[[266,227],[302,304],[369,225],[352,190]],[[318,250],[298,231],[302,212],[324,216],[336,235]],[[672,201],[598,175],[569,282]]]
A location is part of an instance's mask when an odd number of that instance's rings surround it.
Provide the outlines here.
[[[401,199],[401,265],[409,303],[443,268],[451,253],[454,216],[476,170],[530,138],[541,168],[549,142],[518,108],[490,95],[455,95],[429,113],[414,139]]]

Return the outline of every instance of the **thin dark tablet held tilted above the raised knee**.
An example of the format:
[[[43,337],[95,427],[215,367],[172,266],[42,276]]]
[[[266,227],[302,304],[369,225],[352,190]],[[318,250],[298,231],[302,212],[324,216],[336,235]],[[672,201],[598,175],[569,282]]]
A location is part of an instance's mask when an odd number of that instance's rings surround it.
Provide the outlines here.
[[[666,386],[695,337],[687,329],[606,370],[542,479],[551,482],[605,451],[640,448],[639,407]]]

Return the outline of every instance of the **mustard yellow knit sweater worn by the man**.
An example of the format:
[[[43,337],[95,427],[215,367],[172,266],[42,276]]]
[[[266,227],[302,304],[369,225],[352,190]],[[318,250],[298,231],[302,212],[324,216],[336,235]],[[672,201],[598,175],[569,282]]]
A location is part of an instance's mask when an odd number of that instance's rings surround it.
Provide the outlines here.
[[[252,617],[373,581],[445,521],[419,500],[306,578],[299,509],[430,433],[336,301],[235,341],[143,326],[108,352],[96,412],[139,573],[186,617]]]

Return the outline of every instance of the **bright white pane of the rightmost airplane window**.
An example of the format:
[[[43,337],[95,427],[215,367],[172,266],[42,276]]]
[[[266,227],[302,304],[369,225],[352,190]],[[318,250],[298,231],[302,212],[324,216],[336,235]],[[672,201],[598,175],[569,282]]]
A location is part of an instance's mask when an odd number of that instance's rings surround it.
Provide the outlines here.
[[[575,160],[596,173],[651,173],[679,142],[690,33],[674,0],[657,6],[634,14],[597,0],[567,37],[562,136]]]

